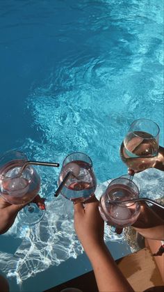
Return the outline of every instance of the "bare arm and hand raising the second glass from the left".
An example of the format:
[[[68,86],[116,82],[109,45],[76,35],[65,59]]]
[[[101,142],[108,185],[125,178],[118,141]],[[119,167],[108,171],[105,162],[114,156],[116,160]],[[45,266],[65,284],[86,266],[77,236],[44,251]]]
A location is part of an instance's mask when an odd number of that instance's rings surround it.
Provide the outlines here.
[[[104,221],[99,214],[99,202],[74,204],[74,228],[90,259],[99,291],[132,292],[104,243]]]

